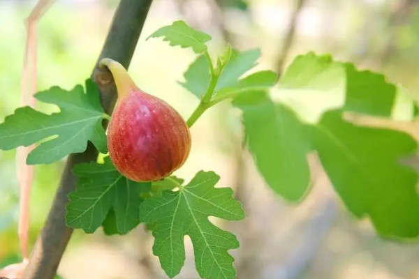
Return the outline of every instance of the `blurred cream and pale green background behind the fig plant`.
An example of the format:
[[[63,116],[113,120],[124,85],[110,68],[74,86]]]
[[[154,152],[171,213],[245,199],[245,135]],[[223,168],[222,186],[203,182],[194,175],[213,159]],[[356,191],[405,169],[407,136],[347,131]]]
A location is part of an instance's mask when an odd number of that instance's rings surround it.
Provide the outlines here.
[[[71,89],[89,77],[105,39],[116,0],[59,0],[39,24],[38,89]],[[35,1],[0,0],[0,120],[20,106],[24,18]],[[144,91],[167,100],[185,118],[198,100],[177,84],[193,52],[145,40],[174,20],[213,37],[210,51],[226,42],[240,50],[260,47],[255,70],[281,73],[296,54],[313,50],[378,70],[388,80],[419,92],[419,1],[417,0],[154,0],[131,63]],[[309,101],[309,100],[307,100]],[[52,112],[55,107],[38,105]],[[419,278],[419,246],[385,241],[368,220],[355,220],[335,195],[323,169],[311,160],[312,190],[291,204],[265,185],[242,149],[240,113],[222,103],[192,130],[191,156],[175,174],[189,180],[214,170],[221,186],[235,189],[247,219],[223,222],[241,247],[233,250],[240,279]],[[37,165],[31,195],[31,243],[50,209],[64,161]],[[19,258],[15,151],[0,152],[0,263]],[[186,242],[179,279],[198,278]],[[75,231],[59,266],[65,279],[167,278],[152,255],[152,238],[139,226],[126,236]]]

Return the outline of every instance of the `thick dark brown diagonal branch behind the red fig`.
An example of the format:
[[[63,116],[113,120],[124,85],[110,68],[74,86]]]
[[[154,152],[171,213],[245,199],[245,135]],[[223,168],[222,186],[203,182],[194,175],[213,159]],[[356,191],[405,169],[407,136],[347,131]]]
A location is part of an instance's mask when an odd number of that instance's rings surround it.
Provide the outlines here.
[[[128,68],[151,3],[152,0],[120,1],[98,61],[103,57],[110,57]],[[101,89],[105,111],[112,111],[116,90],[110,75],[101,72],[96,63],[92,76]],[[71,169],[78,163],[96,160],[97,155],[98,151],[89,144],[83,153],[68,156],[50,213],[24,271],[24,279],[52,279],[57,273],[57,267],[73,232],[65,224],[67,196],[76,186],[76,177]]]

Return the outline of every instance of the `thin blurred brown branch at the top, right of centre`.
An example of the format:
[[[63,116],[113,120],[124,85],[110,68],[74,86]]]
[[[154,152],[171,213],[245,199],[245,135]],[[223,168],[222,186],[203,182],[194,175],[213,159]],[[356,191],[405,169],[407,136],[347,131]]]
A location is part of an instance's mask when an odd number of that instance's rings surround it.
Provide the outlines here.
[[[300,16],[301,10],[306,0],[296,0],[296,1],[297,3],[293,10],[293,14],[291,15],[291,20],[288,24],[288,30],[286,31],[284,43],[282,44],[282,48],[279,51],[279,58],[277,60],[277,72],[279,76],[281,76],[282,70],[284,70],[284,63],[291,50],[291,45],[293,45],[293,41],[295,38],[295,31],[297,30],[297,20],[298,20],[298,17]]]

